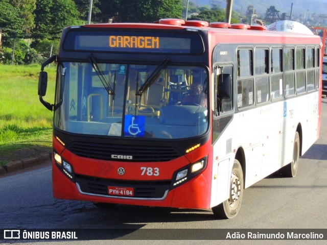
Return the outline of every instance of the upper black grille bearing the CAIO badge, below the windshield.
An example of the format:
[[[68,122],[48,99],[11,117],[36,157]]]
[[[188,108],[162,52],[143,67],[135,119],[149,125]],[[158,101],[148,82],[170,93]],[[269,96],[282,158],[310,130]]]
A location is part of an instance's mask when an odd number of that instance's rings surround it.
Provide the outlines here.
[[[81,157],[130,162],[164,162],[181,156],[170,146],[73,142],[67,149]],[[132,159],[112,159],[111,155],[132,156]]]

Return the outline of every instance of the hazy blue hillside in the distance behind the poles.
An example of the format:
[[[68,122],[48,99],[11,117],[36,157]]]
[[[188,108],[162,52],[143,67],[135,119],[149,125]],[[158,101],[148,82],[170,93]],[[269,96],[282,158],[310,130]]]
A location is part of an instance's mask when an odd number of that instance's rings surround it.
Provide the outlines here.
[[[223,0],[190,0],[194,3],[198,3],[199,6],[208,5],[211,6],[211,2],[221,3],[221,8],[226,8],[226,2]],[[253,5],[258,14],[266,13],[266,10],[270,6],[275,6],[279,11],[279,14],[290,13],[291,4],[293,3],[292,14],[299,15],[306,11],[311,11],[312,13],[324,14],[327,13],[327,0],[234,0],[233,10],[243,13],[249,5]],[[242,9],[243,8],[243,9]]]

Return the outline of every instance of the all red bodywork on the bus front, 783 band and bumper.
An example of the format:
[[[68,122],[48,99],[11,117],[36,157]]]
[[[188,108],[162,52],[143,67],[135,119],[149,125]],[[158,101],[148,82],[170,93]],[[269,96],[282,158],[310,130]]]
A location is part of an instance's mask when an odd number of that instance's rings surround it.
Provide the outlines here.
[[[54,138],[54,149],[59,152],[62,150],[62,145]],[[172,180],[173,174],[176,170],[200,160],[207,156],[211,147],[210,141],[200,148],[191,152],[186,158],[182,156],[169,162],[118,162],[105,161],[98,159],[88,159],[79,157],[71,152],[64,150],[61,156],[74,168],[74,173],[78,175],[85,175],[105,179],[119,179],[119,180],[134,180],[134,181],[159,181]],[[58,150],[57,150],[58,149]],[[59,150],[60,149],[60,150]],[[192,160],[194,159],[194,160]],[[212,161],[208,156],[207,161]],[[121,176],[117,169],[124,166],[126,174]],[[141,175],[141,167],[158,167],[160,169],[159,176]],[[76,183],[69,180],[62,171],[58,168],[55,160],[52,164],[52,178],[53,178],[53,194],[58,199],[68,200],[83,200],[91,202],[105,202],[128,205],[144,205],[144,206],[158,206],[158,207],[176,207],[176,208],[210,208],[211,195],[211,176],[212,170],[207,167],[201,174],[197,175],[188,182],[170,190],[164,200],[151,199],[135,199],[126,197],[101,197],[98,195],[81,193]]]

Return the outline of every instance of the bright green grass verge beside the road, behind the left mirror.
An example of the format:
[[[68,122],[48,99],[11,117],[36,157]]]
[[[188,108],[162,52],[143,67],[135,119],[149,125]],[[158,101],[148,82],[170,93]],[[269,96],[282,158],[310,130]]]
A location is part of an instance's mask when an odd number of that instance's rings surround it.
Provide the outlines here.
[[[48,153],[52,116],[37,95],[40,65],[0,65],[0,165]],[[55,67],[46,68],[46,101],[54,101]]]

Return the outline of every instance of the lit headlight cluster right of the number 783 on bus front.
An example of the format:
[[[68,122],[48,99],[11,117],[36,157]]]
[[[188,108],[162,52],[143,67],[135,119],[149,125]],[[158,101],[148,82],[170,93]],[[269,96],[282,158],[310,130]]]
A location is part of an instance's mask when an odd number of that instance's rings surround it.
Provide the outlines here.
[[[200,161],[197,161],[193,164],[185,166],[175,172],[173,175],[172,188],[175,188],[182,183],[191,180],[196,175],[200,174],[206,166],[207,157],[202,158]]]

